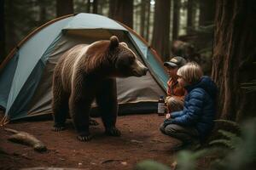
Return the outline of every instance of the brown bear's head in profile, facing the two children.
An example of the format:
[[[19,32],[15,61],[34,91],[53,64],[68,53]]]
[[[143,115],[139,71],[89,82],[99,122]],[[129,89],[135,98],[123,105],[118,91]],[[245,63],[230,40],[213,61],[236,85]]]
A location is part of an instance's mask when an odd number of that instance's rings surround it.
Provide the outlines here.
[[[117,77],[142,77],[147,74],[145,67],[125,42],[119,42],[118,37],[110,37],[109,50],[114,56],[114,66]]]

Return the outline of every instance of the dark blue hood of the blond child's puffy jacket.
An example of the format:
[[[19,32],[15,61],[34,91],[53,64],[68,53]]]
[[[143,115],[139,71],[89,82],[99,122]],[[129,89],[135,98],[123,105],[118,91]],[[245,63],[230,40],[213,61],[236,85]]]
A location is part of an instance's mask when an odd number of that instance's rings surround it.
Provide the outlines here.
[[[212,96],[213,99],[216,99],[217,97],[217,92],[218,92],[217,86],[215,82],[213,82],[212,79],[207,76],[201,77],[201,80],[199,82],[193,85],[189,85],[185,88],[187,89],[188,92],[190,92],[194,88],[203,88],[207,92],[207,94]]]

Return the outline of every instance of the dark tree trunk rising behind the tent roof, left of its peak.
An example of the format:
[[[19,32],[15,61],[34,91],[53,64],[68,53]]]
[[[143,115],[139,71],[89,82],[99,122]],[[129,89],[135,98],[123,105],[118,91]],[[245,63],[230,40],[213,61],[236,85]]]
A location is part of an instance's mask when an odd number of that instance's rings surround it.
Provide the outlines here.
[[[56,0],[57,17],[73,14],[73,0]]]

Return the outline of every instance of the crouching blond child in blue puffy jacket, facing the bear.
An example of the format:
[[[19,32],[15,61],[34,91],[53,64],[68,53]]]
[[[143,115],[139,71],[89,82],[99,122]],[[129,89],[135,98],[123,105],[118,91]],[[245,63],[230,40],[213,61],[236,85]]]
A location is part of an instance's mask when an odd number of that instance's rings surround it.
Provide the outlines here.
[[[217,87],[204,77],[200,65],[190,62],[177,71],[177,82],[187,90],[183,111],[170,113],[160,131],[183,141],[199,144],[211,133],[216,112]]]

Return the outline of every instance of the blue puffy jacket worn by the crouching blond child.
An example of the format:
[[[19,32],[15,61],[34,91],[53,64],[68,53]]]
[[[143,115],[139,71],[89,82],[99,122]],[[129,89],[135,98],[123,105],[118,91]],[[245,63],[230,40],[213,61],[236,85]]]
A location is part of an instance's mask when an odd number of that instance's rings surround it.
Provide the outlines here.
[[[203,140],[212,130],[216,113],[217,87],[210,77],[201,77],[200,82],[185,87],[183,111],[172,112],[165,124],[178,124],[183,127],[195,127]]]

